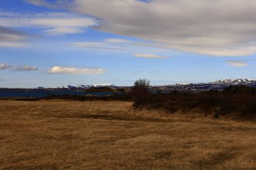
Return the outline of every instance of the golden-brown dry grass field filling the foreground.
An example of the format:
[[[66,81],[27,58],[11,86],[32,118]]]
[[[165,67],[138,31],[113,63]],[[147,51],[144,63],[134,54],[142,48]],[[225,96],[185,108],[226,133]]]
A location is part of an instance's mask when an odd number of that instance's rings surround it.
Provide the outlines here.
[[[0,101],[0,169],[256,169],[256,122],[123,101]]]

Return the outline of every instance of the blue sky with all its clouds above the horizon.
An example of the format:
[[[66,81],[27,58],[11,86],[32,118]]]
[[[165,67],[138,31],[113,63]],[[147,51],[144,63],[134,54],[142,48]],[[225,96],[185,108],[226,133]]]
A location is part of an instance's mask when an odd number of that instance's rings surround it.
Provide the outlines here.
[[[256,79],[253,0],[0,0],[0,87]]]

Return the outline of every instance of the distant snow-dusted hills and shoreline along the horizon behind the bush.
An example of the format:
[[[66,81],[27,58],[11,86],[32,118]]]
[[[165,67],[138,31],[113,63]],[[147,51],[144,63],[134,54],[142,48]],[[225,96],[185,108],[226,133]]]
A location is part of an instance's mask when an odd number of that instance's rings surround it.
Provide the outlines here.
[[[210,91],[210,90],[218,90],[222,91],[226,87],[230,85],[247,85],[248,87],[256,87],[256,80],[253,79],[222,79],[219,81],[214,81],[210,83],[181,83],[181,84],[174,84],[174,85],[152,85],[150,86],[150,91],[154,93],[154,91],[158,91],[161,89],[166,93],[170,91]],[[43,93],[52,93],[52,91],[77,91],[77,93],[84,93],[84,91],[88,92],[115,92],[123,89],[124,91],[129,91],[131,86],[116,86],[116,85],[67,85],[65,87],[51,87],[51,88],[44,88],[44,87],[37,87],[37,88],[1,88],[1,91],[43,91]],[[81,91],[81,92],[79,92]],[[54,93],[54,92],[53,92]],[[58,92],[61,93],[61,92]],[[67,92],[65,92],[67,93]],[[0,94],[1,95],[1,94]]]

